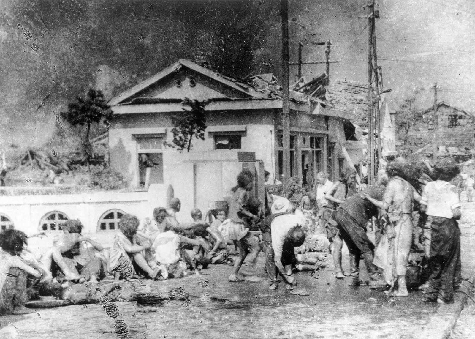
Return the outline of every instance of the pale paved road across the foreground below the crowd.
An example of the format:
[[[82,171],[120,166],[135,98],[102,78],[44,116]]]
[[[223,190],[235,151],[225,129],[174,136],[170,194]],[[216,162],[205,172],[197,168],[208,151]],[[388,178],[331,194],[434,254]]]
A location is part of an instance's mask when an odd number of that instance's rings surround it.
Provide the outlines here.
[[[461,223],[464,277],[475,272],[474,207],[464,206]],[[244,266],[244,271],[264,278],[263,260],[259,257],[257,270]],[[117,338],[118,333],[123,338],[437,338],[456,311],[457,304],[422,302],[419,291],[394,298],[367,286],[349,286],[348,280],[335,280],[331,268],[314,276],[297,274],[308,296],[289,294],[283,286],[269,291],[265,280],[228,282],[230,270],[217,265],[202,276],[156,282],[164,289],[184,287],[189,304],[141,307],[117,302],[121,315],[116,319],[97,304],[43,309],[0,318],[0,338]],[[456,300],[462,296],[457,294]]]

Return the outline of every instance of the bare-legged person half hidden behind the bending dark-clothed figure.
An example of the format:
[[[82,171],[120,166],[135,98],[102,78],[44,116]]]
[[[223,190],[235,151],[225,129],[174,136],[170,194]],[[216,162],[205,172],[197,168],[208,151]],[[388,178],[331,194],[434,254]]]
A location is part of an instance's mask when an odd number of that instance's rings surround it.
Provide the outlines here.
[[[356,172],[351,168],[345,168],[340,174],[340,181],[333,183],[333,186],[330,187],[328,192],[325,194],[325,199],[328,200],[330,208],[332,208],[333,213],[336,211],[336,208],[340,203],[344,202],[346,198],[355,195],[356,191]],[[333,224],[334,223],[334,224]],[[326,231],[326,236],[330,242],[333,243],[332,246],[332,256],[333,256],[333,265],[335,266],[335,278],[343,279],[345,276],[351,275],[351,273],[358,272],[358,263],[355,262],[355,258],[350,256],[350,273],[344,273],[342,269],[342,248],[343,240],[336,227],[336,222],[333,221],[333,218],[328,218],[325,225],[323,225]]]

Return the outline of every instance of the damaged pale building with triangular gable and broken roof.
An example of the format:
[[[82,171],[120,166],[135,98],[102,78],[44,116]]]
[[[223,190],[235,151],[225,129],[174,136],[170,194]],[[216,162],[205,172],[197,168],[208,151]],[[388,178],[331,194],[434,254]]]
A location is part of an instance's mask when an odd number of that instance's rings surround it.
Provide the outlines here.
[[[304,181],[328,171],[335,178],[347,160],[341,145],[351,114],[323,107],[319,95],[324,88],[319,84],[310,93],[304,91],[309,86],[302,85],[291,91],[291,175]],[[206,102],[207,128],[205,140],[194,139],[191,151],[180,153],[164,141],[172,139],[172,116],[188,109],[182,105],[185,98]],[[272,74],[244,82],[180,59],[109,104],[114,111],[111,167],[128,178],[131,187],[145,182],[171,185],[184,210],[206,209],[209,202],[223,200],[243,167],[257,175],[266,169],[271,181],[284,179],[281,88]],[[142,155],[154,164],[148,174],[141,168]]]

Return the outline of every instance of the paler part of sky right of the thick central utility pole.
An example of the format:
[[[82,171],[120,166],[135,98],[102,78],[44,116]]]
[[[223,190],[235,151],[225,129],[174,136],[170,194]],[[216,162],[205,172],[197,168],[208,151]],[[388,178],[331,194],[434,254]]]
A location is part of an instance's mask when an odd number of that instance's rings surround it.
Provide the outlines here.
[[[331,60],[341,60],[331,65],[331,82],[367,83],[367,2],[291,1],[295,42],[306,44],[304,61],[323,60],[324,47],[312,42],[327,39],[333,44]],[[380,11],[376,20],[378,65],[384,88],[391,89],[390,107],[398,109],[415,91],[420,92],[416,105],[430,107],[437,82],[438,101],[475,113],[475,2],[377,0],[376,9]],[[316,73],[324,65],[304,69]]]

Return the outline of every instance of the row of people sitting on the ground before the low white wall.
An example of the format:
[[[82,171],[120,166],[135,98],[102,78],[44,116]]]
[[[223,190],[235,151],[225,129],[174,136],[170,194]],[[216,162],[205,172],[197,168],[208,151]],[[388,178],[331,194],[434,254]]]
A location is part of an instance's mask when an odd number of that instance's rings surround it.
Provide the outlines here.
[[[23,306],[27,281],[28,290],[34,286],[49,291],[53,285],[67,289],[72,283],[103,279],[181,278],[187,270],[200,274],[209,264],[232,263],[232,242],[223,235],[226,210],[210,211],[213,222],[207,223],[201,211],[193,209],[193,221],[181,224],[178,211],[180,200],[173,198],[169,209],[153,210],[153,221],[146,218],[141,224],[136,216],[124,214],[110,248],[82,235],[79,220],[67,220],[59,232],[29,237],[19,230],[0,232],[0,314],[28,311]]]

